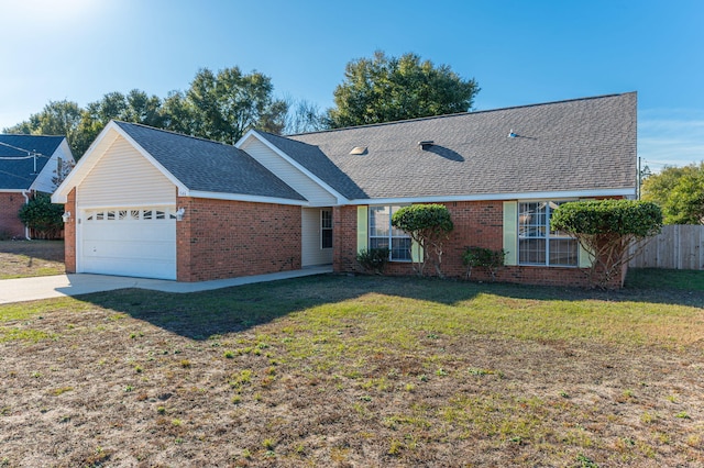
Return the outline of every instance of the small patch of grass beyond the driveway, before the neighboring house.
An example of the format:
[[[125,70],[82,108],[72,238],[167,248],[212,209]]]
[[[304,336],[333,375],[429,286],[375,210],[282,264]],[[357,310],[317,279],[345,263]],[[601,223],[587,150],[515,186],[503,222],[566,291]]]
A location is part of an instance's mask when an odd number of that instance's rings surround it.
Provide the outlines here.
[[[63,241],[0,241],[0,280],[65,271]]]

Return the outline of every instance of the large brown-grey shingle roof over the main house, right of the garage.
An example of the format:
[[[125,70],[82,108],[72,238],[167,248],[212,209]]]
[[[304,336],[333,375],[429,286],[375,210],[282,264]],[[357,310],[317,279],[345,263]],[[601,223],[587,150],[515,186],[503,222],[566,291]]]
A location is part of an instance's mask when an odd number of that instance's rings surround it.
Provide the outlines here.
[[[264,136],[349,199],[630,189],[636,99],[630,92]],[[512,131],[518,136],[508,137]],[[435,143],[422,151],[421,141]],[[350,155],[355,146],[366,154]]]

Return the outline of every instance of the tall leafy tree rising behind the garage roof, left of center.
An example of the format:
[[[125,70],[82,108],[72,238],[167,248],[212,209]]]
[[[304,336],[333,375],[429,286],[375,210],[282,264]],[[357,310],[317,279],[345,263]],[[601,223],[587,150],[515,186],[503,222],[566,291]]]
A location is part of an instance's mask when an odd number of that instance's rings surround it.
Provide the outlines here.
[[[186,92],[196,116],[191,133],[229,144],[254,127],[280,133],[288,107],[273,91],[271,78],[257,71],[244,75],[232,67],[216,75],[202,68]]]

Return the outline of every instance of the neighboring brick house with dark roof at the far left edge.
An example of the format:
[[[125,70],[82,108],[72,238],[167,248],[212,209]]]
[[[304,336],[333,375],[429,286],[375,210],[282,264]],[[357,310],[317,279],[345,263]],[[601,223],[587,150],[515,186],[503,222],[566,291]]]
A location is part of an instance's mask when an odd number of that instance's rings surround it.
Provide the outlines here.
[[[34,193],[53,193],[73,164],[64,136],[0,135],[0,237],[30,238],[18,212]]]

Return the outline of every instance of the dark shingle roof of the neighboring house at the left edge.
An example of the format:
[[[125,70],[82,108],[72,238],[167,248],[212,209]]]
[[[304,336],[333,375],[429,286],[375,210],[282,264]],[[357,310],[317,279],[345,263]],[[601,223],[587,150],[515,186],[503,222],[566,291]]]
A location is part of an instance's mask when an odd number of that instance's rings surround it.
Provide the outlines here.
[[[63,136],[0,135],[0,190],[28,190],[63,140]],[[25,158],[28,152],[38,154],[36,170],[34,158]]]

